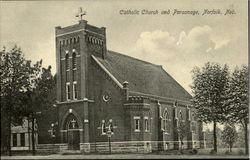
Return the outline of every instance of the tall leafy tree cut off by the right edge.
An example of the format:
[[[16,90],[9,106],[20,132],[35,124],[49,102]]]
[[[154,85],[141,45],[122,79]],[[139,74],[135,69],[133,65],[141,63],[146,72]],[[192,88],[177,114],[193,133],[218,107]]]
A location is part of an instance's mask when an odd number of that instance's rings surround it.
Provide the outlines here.
[[[249,79],[248,67],[235,68],[230,79],[227,110],[228,121],[240,123],[245,134],[245,153],[248,154],[248,123],[249,123]]]

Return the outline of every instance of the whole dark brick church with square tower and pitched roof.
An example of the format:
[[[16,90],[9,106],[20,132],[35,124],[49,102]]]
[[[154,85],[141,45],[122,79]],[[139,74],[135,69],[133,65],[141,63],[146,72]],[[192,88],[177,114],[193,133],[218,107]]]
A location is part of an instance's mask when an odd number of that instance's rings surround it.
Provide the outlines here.
[[[152,152],[205,147],[191,95],[160,65],[106,46],[106,28],[56,27],[57,104],[38,119],[38,150]],[[53,147],[52,147],[53,146]]]

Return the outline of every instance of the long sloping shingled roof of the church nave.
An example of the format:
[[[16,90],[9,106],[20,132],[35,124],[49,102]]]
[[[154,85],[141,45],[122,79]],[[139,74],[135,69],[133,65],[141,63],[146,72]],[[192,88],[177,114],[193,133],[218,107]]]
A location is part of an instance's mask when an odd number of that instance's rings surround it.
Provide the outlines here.
[[[105,59],[96,59],[121,84],[128,81],[129,91],[185,101],[191,98],[191,95],[159,65],[113,51],[107,51]]]

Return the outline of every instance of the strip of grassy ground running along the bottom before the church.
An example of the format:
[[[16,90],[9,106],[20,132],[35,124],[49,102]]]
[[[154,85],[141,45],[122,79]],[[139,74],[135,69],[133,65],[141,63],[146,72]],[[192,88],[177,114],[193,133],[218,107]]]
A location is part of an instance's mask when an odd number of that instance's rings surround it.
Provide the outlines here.
[[[81,154],[81,155],[61,155],[61,154],[50,154],[41,155],[37,154],[32,156],[30,154],[14,154],[14,156],[2,156],[1,159],[249,159],[248,155],[239,154],[241,151],[244,153],[244,148],[233,148],[231,154],[225,154],[228,148],[218,148],[217,154],[211,155],[210,151],[212,148],[198,149],[198,154],[166,154],[166,152],[157,153],[128,153],[128,154]],[[185,152],[184,152],[185,153]],[[188,152],[186,152],[188,153]]]

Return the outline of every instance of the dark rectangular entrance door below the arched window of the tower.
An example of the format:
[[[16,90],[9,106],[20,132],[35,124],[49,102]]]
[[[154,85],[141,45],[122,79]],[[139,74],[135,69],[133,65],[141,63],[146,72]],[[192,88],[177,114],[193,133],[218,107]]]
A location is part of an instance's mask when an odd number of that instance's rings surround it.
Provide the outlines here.
[[[80,132],[79,130],[68,130],[68,149],[80,150]]]

